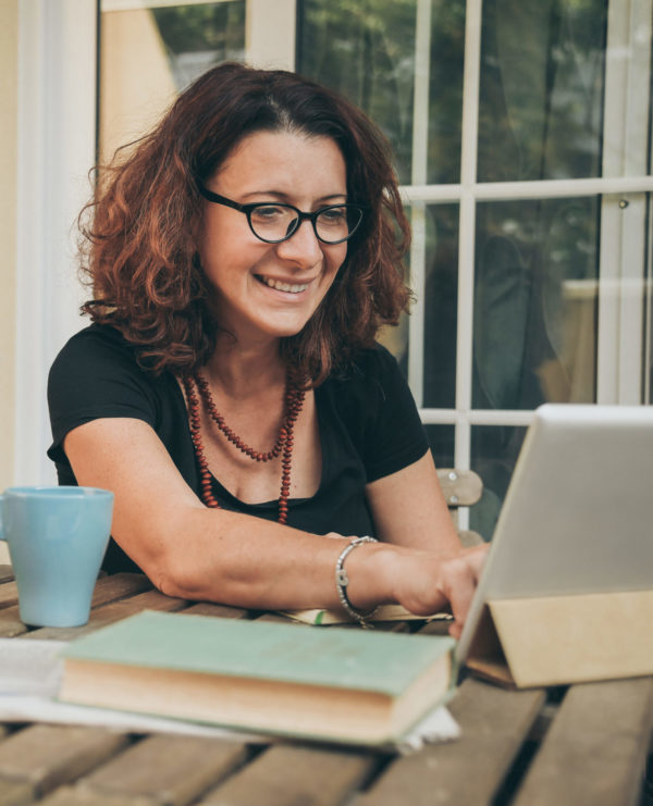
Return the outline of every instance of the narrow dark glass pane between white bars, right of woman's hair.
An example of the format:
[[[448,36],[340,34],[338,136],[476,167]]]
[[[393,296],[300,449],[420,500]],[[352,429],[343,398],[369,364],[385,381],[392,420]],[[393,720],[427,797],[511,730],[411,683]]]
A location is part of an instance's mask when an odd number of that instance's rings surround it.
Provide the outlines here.
[[[456,401],[458,206],[427,210],[423,405],[445,409]]]

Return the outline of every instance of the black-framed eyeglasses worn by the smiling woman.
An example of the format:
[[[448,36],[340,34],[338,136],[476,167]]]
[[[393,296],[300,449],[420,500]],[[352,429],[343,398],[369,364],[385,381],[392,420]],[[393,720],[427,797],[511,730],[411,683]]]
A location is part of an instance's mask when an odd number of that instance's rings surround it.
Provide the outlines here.
[[[354,235],[365,213],[361,204],[329,204],[305,213],[292,204],[278,204],[270,201],[256,201],[254,204],[239,204],[225,196],[214,194],[198,183],[199,193],[215,204],[224,204],[247,215],[249,228],[259,240],[266,244],[281,244],[291,238],[303,221],[310,221],[318,240],[323,244],[342,244]]]

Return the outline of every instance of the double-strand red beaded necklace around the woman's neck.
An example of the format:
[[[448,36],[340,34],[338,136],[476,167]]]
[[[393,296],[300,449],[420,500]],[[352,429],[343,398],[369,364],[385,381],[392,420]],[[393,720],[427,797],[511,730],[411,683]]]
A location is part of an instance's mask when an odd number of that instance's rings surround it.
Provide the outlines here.
[[[295,429],[295,422],[304,405],[305,390],[299,388],[296,384],[291,383],[289,379],[286,382],[285,390],[285,406],[284,417],[279,429],[279,436],[274,443],[272,450],[267,454],[260,452],[250,448],[249,445],[243,442],[241,437],[235,434],[229,425],[224,422],[224,418],[218,411],[211,389],[207,381],[196,372],[194,375],[184,375],[182,379],[184,389],[186,390],[186,400],[188,401],[188,422],[190,425],[190,438],[193,439],[193,446],[195,447],[195,455],[197,457],[197,463],[199,464],[199,474],[201,479],[201,498],[207,507],[220,508],[220,505],[215,500],[213,493],[211,492],[211,474],[209,472],[209,466],[204,455],[204,445],[201,442],[200,432],[200,419],[199,419],[199,406],[200,401],[195,394],[195,389],[199,393],[204,407],[209,412],[211,419],[220,431],[226,436],[226,438],[233,443],[233,445],[242,450],[243,454],[248,456],[250,459],[257,462],[268,462],[271,459],[275,459],[283,451],[281,460],[281,493],[279,495],[279,522],[286,523],[288,519],[288,497],[291,495],[291,464],[293,458],[293,431]]]

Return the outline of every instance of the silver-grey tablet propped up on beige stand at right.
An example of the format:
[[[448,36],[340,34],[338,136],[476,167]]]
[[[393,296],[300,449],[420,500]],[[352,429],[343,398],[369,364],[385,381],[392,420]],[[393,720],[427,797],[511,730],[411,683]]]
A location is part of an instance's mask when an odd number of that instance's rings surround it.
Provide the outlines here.
[[[457,645],[492,599],[653,587],[653,407],[534,412]]]

